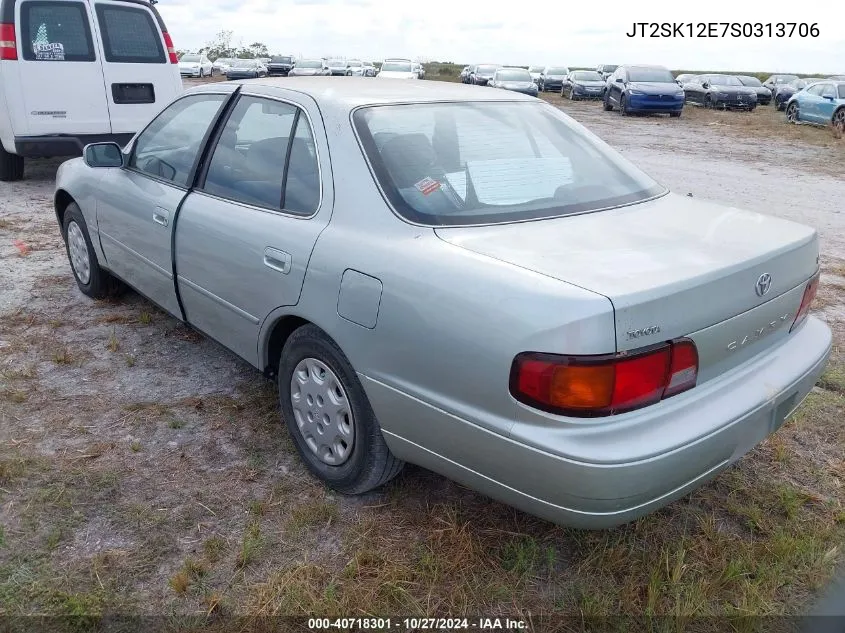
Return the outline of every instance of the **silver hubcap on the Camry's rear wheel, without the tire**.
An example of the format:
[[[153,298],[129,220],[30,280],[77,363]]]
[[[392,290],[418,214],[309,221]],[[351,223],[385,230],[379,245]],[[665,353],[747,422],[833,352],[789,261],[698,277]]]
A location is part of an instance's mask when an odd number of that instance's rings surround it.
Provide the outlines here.
[[[328,365],[316,358],[299,361],[290,380],[293,416],[308,448],[330,466],[352,454],[355,421],[346,390]]]

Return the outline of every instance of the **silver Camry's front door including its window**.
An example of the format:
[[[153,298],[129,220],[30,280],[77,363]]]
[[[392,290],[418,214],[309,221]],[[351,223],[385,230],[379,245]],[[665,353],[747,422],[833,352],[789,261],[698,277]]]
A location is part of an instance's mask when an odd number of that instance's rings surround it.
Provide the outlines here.
[[[108,170],[100,183],[97,226],[106,266],[177,318],[174,218],[202,142],[227,98],[203,93],[175,101],[135,140],[127,166]]]

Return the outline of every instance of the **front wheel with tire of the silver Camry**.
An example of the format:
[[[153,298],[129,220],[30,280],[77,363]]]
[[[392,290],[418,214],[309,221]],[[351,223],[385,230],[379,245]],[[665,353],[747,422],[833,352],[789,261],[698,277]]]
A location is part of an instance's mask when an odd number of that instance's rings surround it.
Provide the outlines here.
[[[65,251],[73,278],[82,294],[92,299],[105,299],[116,297],[126,290],[122,281],[115,279],[100,267],[97,254],[91,245],[88,225],[85,224],[82,211],[75,202],[71,202],[65,209],[62,237],[65,240]]]

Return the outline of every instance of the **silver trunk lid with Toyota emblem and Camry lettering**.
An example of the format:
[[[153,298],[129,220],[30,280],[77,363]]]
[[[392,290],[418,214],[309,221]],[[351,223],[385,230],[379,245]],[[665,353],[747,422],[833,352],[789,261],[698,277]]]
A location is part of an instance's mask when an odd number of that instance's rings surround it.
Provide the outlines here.
[[[435,232],[606,296],[616,351],[692,337],[702,379],[708,366],[727,369],[786,336],[818,269],[814,229],[671,193],[595,213]]]

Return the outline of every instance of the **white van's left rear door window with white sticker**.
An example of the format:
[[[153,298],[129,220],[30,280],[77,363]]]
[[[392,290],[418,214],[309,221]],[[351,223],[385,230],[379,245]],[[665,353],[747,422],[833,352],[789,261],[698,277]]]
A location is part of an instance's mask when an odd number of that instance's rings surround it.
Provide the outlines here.
[[[29,61],[92,62],[88,12],[81,2],[33,0],[21,4],[23,58]]]

